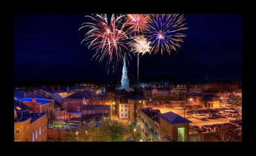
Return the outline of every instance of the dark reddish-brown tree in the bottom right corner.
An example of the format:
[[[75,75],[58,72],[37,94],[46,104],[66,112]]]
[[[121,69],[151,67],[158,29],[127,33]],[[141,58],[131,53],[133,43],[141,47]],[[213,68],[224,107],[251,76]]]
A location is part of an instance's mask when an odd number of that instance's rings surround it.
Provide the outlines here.
[[[234,126],[223,124],[220,129],[216,130],[216,139],[219,141],[241,141],[241,135]]]

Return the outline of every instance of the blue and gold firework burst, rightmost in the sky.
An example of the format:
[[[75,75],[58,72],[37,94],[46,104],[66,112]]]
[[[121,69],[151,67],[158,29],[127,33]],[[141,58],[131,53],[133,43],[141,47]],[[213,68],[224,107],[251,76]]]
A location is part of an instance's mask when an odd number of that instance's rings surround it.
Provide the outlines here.
[[[149,29],[147,38],[151,41],[152,51],[156,54],[161,50],[171,54],[171,50],[176,51],[176,47],[181,48],[179,42],[183,42],[182,30],[188,29],[184,27],[186,23],[183,15],[178,14],[154,14],[150,16]]]

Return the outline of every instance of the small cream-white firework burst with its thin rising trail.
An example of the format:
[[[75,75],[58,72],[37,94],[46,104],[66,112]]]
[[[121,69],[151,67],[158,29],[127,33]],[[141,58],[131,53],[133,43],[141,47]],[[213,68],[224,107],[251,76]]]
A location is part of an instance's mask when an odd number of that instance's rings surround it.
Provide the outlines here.
[[[150,47],[151,42],[147,41],[147,39],[140,35],[133,37],[133,41],[130,42],[131,52],[137,53],[137,81],[139,76],[139,54],[146,54],[147,52],[150,53],[152,47]]]

